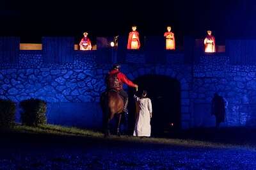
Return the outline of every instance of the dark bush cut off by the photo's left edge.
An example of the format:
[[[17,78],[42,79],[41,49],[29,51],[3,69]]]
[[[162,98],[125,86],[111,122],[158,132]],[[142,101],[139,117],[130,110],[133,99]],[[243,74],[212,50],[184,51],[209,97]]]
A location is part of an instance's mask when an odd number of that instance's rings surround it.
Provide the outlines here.
[[[11,100],[0,100],[0,127],[9,128],[15,122],[16,105]]]

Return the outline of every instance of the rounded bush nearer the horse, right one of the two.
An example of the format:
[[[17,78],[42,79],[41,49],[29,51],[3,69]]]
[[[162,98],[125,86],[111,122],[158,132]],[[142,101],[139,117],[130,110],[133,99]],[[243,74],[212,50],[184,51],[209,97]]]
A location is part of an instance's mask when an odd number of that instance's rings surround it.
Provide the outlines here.
[[[44,100],[31,98],[20,102],[22,112],[20,119],[22,125],[38,126],[47,123],[45,112],[47,105]]]

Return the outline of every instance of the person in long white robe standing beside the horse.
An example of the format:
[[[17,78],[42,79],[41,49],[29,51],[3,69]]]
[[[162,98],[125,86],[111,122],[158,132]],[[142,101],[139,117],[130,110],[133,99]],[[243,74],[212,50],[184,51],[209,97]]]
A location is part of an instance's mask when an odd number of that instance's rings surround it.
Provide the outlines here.
[[[136,102],[136,123],[134,127],[134,136],[150,137],[152,118],[152,104],[150,98],[147,98],[147,91],[143,91],[141,97],[134,95]]]

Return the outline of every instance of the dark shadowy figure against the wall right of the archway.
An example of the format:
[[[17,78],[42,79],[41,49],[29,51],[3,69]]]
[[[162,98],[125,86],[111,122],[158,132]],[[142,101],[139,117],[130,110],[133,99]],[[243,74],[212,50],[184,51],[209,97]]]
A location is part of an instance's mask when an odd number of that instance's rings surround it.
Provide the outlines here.
[[[218,93],[214,93],[212,98],[211,114],[216,117],[216,127],[220,127],[220,123],[225,121],[225,102]]]

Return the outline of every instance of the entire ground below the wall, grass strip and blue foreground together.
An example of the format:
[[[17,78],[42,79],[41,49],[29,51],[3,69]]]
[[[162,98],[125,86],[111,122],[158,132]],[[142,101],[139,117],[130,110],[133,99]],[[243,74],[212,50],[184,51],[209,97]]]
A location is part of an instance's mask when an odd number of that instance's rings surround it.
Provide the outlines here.
[[[254,132],[194,129],[105,138],[82,128],[17,125],[1,131],[0,169],[256,169]]]

